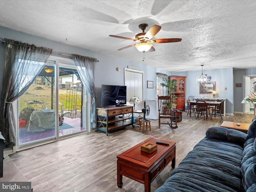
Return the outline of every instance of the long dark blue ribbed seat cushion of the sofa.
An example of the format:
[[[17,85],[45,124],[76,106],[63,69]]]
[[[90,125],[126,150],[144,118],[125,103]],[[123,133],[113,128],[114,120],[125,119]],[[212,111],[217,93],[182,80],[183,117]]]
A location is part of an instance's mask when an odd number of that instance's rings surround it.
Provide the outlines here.
[[[156,192],[242,192],[242,152],[238,144],[204,138]]]

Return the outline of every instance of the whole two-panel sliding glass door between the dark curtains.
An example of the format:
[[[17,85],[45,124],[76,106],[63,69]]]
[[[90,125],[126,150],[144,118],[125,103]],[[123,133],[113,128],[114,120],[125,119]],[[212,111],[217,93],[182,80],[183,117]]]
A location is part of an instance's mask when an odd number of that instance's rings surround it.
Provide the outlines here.
[[[87,132],[85,93],[72,60],[48,60],[18,99],[18,149]]]

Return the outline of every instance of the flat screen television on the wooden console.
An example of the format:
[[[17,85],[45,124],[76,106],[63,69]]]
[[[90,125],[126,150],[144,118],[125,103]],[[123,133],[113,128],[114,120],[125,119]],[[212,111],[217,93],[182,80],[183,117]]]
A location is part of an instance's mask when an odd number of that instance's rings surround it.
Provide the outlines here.
[[[102,85],[101,106],[124,106],[126,104],[126,86]]]

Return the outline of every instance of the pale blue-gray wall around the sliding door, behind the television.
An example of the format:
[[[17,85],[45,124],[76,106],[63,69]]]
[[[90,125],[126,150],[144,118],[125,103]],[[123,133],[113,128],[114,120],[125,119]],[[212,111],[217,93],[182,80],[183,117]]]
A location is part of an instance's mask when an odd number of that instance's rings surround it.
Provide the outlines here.
[[[52,48],[55,52],[62,53],[74,53],[83,56],[89,56],[97,58],[99,62],[96,63],[95,67],[95,86],[96,86],[96,95],[97,95],[97,104],[100,106],[101,103],[101,85],[102,84],[112,84],[112,85],[124,85],[124,68],[127,66],[133,66],[140,68],[144,72],[144,98],[145,100],[156,98],[156,72],[163,71],[158,68],[153,68],[151,66],[146,66],[141,63],[134,63],[120,58],[107,56],[94,52],[91,50],[86,50],[78,48],[75,46],[66,45],[60,42],[55,42],[45,38],[40,38],[38,36],[18,32],[8,28],[0,27],[0,38],[4,39],[13,39],[21,42],[26,42],[28,44],[35,44],[36,46],[44,46]],[[3,64],[4,62],[4,44],[0,44],[0,90],[2,90],[2,77],[3,77]],[[146,60],[144,61],[146,62]],[[116,67],[119,67],[121,70],[116,71]],[[166,73],[166,71],[163,71]],[[154,88],[147,88],[147,80],[154,81]]]

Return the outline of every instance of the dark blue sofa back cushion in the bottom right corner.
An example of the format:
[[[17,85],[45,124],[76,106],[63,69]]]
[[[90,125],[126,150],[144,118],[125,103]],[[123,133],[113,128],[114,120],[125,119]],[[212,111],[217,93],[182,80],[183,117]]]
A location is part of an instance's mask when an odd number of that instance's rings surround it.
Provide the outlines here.
[[[251,164],[247,168],[247,170],[246,170],[246,172],[244,174],[243,184],[244,184],[244,189],[245,190],[248,190],[248,188],[250,188],[253,185],[255,187],[255,184],[256,184],[256,163]]]

